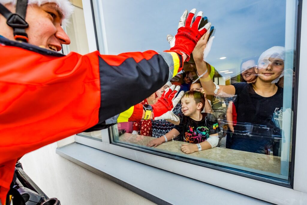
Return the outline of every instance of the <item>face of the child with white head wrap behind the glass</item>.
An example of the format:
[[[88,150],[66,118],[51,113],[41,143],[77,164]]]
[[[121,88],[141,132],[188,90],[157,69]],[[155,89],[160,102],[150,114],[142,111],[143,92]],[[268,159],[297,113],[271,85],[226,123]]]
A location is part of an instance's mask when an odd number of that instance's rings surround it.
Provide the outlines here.
[[[258,78],[265,82],[277,79],[284,70],[284,61],[279,58],[265,58],[259,61],[255,69]]]

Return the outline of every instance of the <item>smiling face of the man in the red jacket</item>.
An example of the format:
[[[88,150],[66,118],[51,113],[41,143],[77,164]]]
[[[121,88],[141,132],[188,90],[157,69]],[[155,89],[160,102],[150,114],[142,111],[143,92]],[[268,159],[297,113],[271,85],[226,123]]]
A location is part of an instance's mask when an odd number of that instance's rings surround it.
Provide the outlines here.
[[[11,4],[6,5],[9,10],[15,13]],[[55,3],[46,3],[41,6],[36,4],[28,5],[26,22],[29,28],[25,29],[28,34],[30,44],[44,47],[53,51],[60,51],[61,44],[70,44],[68,35],[61,27],[63,15]],[[6,20],[1,18],[0,33],[4,37],[14,40],[13,29],[6,24]]]

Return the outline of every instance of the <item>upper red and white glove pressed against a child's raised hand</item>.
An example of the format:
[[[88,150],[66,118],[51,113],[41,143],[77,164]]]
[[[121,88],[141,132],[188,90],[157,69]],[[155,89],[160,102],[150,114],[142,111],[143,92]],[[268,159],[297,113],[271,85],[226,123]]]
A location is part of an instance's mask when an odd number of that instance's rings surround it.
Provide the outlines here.
[[[185,53],[188,56],[186,61],[190,59],[197,41],[211,26],[211,23],[209,22],[204,27],[198,29],[200,20],[203,17],[203,12],[199,11],[196,15],[195,21],[192,22],[195,13],[196,9],[192,9],[189,14],[188,10],[185,10],[180,18],[178,31],[175,37],[172,35],[167,35],[166,37],[171,45],[170,50]]]

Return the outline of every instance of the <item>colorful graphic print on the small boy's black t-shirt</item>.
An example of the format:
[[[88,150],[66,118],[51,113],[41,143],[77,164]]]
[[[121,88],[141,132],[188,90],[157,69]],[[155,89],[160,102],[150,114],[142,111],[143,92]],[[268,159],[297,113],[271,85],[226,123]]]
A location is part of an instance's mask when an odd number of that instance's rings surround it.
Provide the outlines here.
[[[185,132],[185,142],[197,144],[200,142],[204,142],[209,137],[209,128],[208,127],[194,127],[189,126],[187,132]]]

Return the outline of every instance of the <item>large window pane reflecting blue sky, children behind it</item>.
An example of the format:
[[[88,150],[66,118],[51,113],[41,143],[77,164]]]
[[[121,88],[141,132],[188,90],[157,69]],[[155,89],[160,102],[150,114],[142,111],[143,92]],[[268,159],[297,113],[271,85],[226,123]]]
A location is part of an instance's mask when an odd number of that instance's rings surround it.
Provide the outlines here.
[[[101,4],[107,45],[99,47],[109,54],[167,50],[166,35],[176,34],[183,11],[202,10],[214,26],[206,67],[210,82],[220,85],[210,90],[204,79],[191,84],[199,69],[191,57],[183,73],[141,102],[153,104],[171,84],[181,85],[184,91],[204,89],[204,96],[187,93],[174,109],[180,124],[167,120],[118,123],[111,130],[112,143],[290,183],[297,1],[114,0]],[[167,133],[172,139],[149,147],[152,140],[161,137],[163,141]],[[197,143],[208,149],[197,151]],[[187,146],[196,152],[185,154]]]

